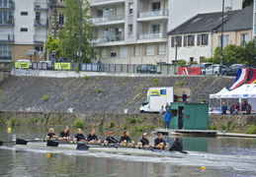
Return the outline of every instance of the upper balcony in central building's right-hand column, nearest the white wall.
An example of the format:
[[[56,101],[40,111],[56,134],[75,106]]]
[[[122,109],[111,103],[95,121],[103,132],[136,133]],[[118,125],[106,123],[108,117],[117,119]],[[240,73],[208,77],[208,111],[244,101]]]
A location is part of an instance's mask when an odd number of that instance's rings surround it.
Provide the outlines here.
[[[159,21],[168,20],[168,10],[143,11],[138,13],[137,21]]]

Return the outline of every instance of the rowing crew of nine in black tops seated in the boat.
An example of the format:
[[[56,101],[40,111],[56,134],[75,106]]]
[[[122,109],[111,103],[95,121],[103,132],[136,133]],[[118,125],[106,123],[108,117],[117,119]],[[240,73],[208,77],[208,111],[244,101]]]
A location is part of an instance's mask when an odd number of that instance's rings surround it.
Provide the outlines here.
[[[70,141],[69,128],[65,127],[64,131],[59,134],[59,138],[55,135],[54,129],[50,128],[48,130],[46,139],[58,139],[59,141]],[[101,143],[101,140],[99,140],[98,137],[95,135],[95,129],[91,129],[90,134],[87,136],[87,139],[85,139],[84,135],[82,134],[82,130],[77,129],[77,134],[74,136],[73,141],[74,142],[88,141],[89,144],[100,144]],[[121,146],[134,146],[134,141],[131,141],[128,131],[124,131],[123,136],[120,138],[120,141],[118,141],[114,137],[114,132],[109,132],[109,136],[106,138],[106,140],[103,143],[104,144],[117,144],[117,145],[121,145]],[[147,139],[147,133],[144,133],[142,135],[141,139],[137,143],[137,146],[142,146],[142,147],[149,146],[149,147],[154,147],[154,148],[158,148],[158,149],[167,149],[168,148],[168,144],[163,139],[162,134],[157,135],[157,138],[154,140],[154,146],[152,146]],[[183,146],[182,146],[180,137],[176,137],[175,142],[173,143],[172,147],[169,148],[169,150],[177,150],[177,151],[183,150]]]

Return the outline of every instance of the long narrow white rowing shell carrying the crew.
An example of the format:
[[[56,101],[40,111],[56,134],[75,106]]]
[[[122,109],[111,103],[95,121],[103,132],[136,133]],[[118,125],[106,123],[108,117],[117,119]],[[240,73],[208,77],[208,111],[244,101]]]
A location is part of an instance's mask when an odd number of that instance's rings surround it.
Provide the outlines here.
[[[27,146],[16,145],[20,148],[30,147],[30,148],[46,148],[45,142],[29,142]],[[47,148],[51,149],[80,149],[88,150],[92,152],[108,152],[108,153],[125,153],[125,154],[135,154],[135,155],[144,155],[144,156],[170,156],[170,157],[197,157],[205,158],[207,156],[202,154],[197,154],[193,152],[181,153],[179,151],[169,151],[169,150],[160,150],[160,149],[149,149],[149,148],[138,148],[138,147],[123,147],[123,146],[99,146],[99,145],[90,145],[90,144],[68,144],[60,143],[57,147],[49,146]]]

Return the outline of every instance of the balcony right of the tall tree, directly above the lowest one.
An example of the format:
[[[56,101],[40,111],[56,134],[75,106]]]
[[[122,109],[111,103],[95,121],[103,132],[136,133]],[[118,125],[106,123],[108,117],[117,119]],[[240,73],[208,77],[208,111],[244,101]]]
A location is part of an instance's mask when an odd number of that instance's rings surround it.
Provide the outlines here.
[[[115,16],[109,16],[109,17],[96,17],[96,18],[92,18],[92,23],[95,26],[125,24],[125,16],[115,15]]]

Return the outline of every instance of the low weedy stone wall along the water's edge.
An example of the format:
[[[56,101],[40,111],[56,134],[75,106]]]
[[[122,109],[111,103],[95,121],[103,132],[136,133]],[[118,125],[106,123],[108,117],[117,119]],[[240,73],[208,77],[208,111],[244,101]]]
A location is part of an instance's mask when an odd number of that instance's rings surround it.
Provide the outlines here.
[[[152,131],[163,126],[161,114],[0,112],[0,124],[10,126],[69,126],[96,129]],[[210,115],[209,130],[256,133],[256,115]],[[249,130],[252,129],[251,132]],[[253,132],[255,131],[255,132]]]

